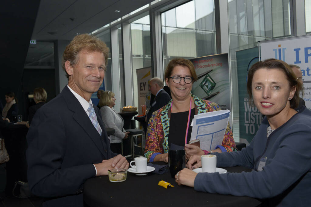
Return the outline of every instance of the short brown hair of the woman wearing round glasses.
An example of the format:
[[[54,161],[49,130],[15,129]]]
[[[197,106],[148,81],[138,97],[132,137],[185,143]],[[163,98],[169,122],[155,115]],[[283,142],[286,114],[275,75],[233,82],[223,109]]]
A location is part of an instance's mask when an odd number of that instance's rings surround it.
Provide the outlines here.
[[[164,75],[165,80],[171,76],[174,67],[177,65],[188,67],[190,70],[191,76],[193,77],[193,82],[197,81],[197,73],[195,72],[193,63],[184,58],[175,58],[169,61],[169,64],[167,64],[166,70],[165,70],[165,75]]]

